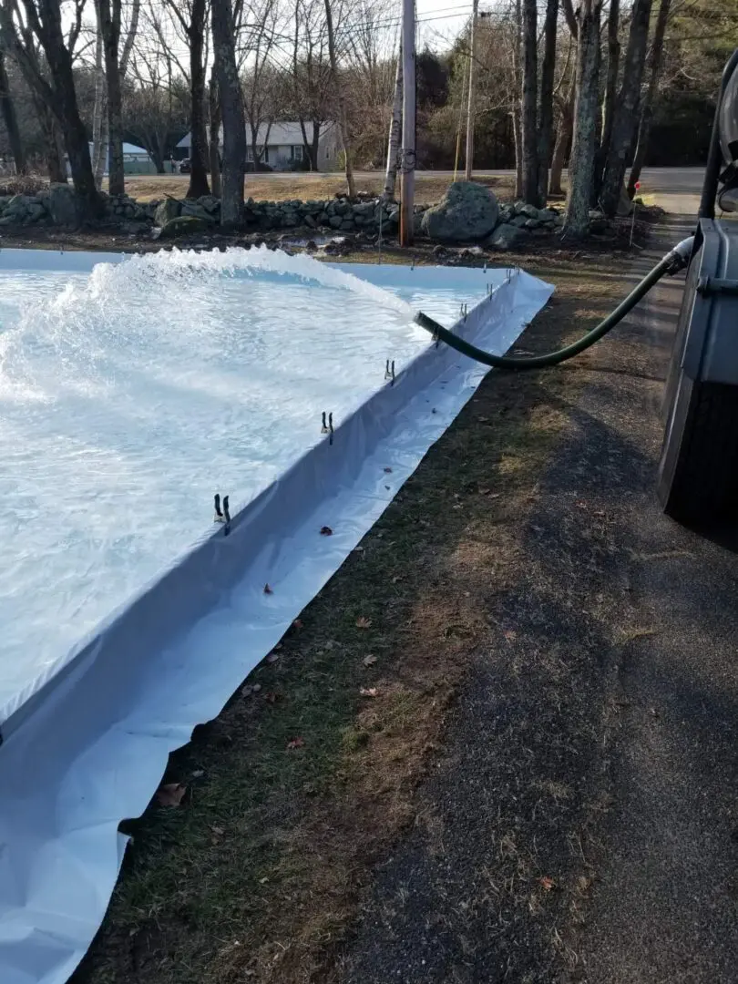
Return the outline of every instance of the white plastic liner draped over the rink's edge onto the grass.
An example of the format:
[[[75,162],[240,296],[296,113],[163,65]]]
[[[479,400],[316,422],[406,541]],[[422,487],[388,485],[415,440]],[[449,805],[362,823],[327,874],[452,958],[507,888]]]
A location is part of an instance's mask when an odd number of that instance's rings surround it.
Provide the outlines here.
[[[9,255],[16,252],[0,253],[0,273],[21,265],[89,272],[100,259],[119,259]],[[344,269],[394,290],[443,281],[468,297],[483,294],[494,275],[497,289],[456,331],[497,353],[518,338],[552,292],[519,271]],[[241,509],[229,536],[217,528],[202,539],[93,632],[5,721],[2,984],[68,979],[118,876],[126,845],[120,821],[145,810],[169,753],[189,740],[197,723],[215,717],[277,644],[486,371],[429,339],[394,386],[382,385],[338,422],[332,446],[323,440],[295,461]],[[324,524],[333,536],[320,535]],[[267,583],[274,593],[264,593]]]

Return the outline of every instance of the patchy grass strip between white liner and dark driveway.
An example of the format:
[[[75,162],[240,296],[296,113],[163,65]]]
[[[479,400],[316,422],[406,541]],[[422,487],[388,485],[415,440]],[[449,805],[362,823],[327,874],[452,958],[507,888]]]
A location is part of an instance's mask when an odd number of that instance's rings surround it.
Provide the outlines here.
[[[536,261],[557,292],[521,347],[571,340],[612,308],[625,289],[599,263]],[[580,386],[576,371],[487,377],[270,661],[172,757],[164,781],[187,794],[127,825],[134,843],[75,984],[340,979],[375,866],[422,822],[415,789],[470,653],[505,645],[488,598],[517,578],[521,527]],[[507,864],[490,873],[501,886]],[[544,916],[549,902],[538,892]]]

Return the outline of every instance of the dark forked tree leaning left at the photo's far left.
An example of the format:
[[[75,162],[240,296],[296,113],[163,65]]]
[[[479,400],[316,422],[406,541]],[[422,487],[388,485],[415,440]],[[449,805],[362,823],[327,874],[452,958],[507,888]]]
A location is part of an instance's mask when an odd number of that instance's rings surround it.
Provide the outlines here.
[[[96,215],[100,201],[72,70],[72,52],[81,30],[83,7],[84,0],[77,0],[74,20],[65,36],[60,0],[23,0],[23,10],[18,0],[0,0],[0,43],[18,63],[39,100],[49,106],[58,120],[75,191],[87,214]],[[36,42],[43,53],[47,75],[39,70]]]

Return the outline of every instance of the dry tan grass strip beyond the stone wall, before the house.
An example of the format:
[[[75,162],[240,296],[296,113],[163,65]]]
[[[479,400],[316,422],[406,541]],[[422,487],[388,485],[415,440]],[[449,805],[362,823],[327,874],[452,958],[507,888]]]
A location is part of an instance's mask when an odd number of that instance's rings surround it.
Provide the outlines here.
[[[509,177],[480,177],[479,182],[492,188],[502,198],[512,197],[513,182]],[[429,177],[422,173],[416,175],[415,200],[419,204],[437,202],[449,186],[449,177]],[[129,177],[126,179],[128,194],[141,202],[171,195],[183,198],[187,193],[189,178],[186,175],[166,175],[160,177]],[[358,176],[356,190],[380,194],[384,176],[380,173],[371,177]],[[326,177],[323,174],[249,174],[244,190],[247,196],[256,201],[284,202],[289,199],[328,199],[345,192],[345,179],[340,175]]]

